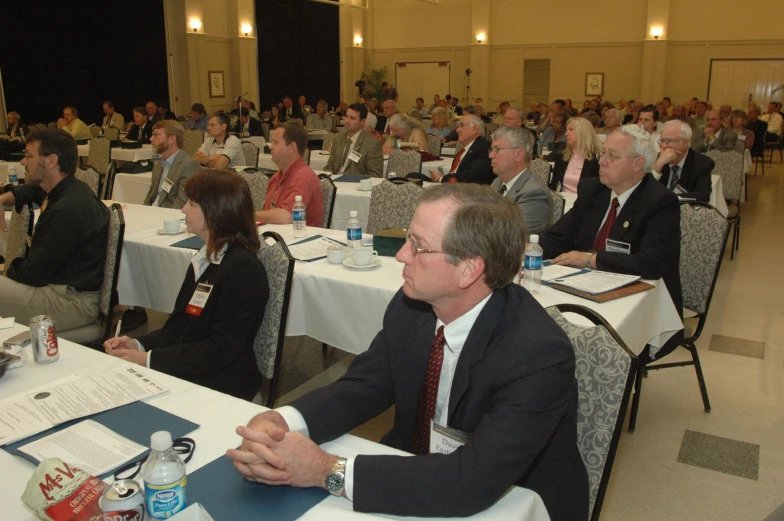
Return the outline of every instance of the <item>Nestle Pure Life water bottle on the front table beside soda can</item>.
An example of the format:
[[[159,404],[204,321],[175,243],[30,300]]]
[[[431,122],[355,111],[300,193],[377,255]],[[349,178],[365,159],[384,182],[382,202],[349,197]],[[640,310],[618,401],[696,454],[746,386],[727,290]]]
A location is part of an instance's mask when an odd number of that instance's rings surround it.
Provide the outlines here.
[[[185,464],[172,448],[168,431],[153,433],[150,448],[141,468],[147,515],[150,519],[168,519],[185,508]]]

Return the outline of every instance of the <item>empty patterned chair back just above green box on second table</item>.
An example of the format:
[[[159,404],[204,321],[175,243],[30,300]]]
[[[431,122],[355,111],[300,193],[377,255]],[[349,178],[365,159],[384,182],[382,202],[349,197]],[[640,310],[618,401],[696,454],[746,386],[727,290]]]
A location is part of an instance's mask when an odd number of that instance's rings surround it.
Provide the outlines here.
[[[422,187],[416,183],[398,185],[387,181],[374,186],[370,193],[367,233],[385,228],[408,229],[421,194]]]

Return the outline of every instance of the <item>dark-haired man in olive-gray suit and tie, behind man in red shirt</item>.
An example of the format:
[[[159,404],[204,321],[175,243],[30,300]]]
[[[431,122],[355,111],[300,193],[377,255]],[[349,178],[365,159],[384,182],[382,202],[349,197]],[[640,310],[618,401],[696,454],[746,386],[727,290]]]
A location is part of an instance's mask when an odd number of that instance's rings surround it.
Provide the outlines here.
[[[384,154],[381,152],[381,142],[363,130],[365,118],[366,105],[349,105],[346,110],[346,132],[338,134],[332,141],[332,152],[324,170],[334,174],[383,177]]]

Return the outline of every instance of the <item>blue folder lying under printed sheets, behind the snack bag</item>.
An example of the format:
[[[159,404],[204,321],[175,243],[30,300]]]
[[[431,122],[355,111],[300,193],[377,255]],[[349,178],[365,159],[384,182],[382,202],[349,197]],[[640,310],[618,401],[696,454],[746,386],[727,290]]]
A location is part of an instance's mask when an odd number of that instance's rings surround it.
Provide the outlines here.
[[[13,454],[14,456],[21,456],[33,464],[38,465],[38,460],[28,454],[25,454],[24,452],[21,452],[19,447],[27,445],[31,441],[35,441],[39,438],[54,434],[55,432],[61,431],[66,427],[70,427],[71,425],[79,423],[83,420],[93,420],[97,423],[100,423],[101,425],[113,430],[117,434],[125,436],[129,440],[135,441],[139,445],[143,445],[145,447],[150,446],[150,436],[152,436],[154,432],[169,431],[172,435],[172,439],[176,439],[185,436],[189,432],[199,428],[198,424],[188,421],[185,418],[175,416],[170,412],[158,409],[157,407],[153,407],[152,405],[146,404],[144,402],[133,402],[129,403],[128,405],[123,405],[122,407],[99,412],[98,414],[94,414],[92,416],[61,423],[60,425],[56,425],[51,429],[30,436],[29,438],[5,445],[3,446],[3,449],[9,454]],[[134,459],[142,458],[149,453],[150,451],[148,449],[141,456],[137,456]],[[98,477],[104,479],[107,476],[111,476],[114,470],[115,469],[112,469],[106,474]]]

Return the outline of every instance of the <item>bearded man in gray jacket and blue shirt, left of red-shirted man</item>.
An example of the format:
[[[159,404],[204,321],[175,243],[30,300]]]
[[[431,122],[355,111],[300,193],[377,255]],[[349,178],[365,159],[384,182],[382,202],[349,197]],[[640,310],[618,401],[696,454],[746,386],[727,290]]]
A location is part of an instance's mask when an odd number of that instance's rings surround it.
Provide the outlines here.
[[[144,204],[161,208],[181,209],[188,201],[185,182],[199,171],[201,165],[185,152],[182,142],[185,131],[174,120],[163,120],[153,126],[150,142],[161,160],[152,168],[152,182]]]

